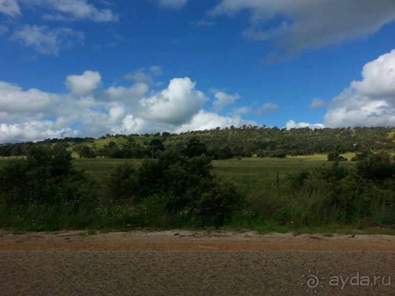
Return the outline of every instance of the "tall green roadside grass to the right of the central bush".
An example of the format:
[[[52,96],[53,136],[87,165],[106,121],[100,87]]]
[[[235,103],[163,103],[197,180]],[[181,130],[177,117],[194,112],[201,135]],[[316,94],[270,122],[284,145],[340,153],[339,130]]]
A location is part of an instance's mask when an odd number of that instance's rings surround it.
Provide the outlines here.
[[[368,199],[369,194],[372,196]],[[375,192],[362,194],[359,203],[354,202],[346,207],[339,201],[334,202],[334,193],[329,187],[293,188],[290,184],[279,187],[263,184],[248,196],[248,210],[244,209],[233,215],[232,227],[267,229],[276,226],[299,229],[352,225],[365,228],[393,224],[393,196],[393,193],[377,189]]]

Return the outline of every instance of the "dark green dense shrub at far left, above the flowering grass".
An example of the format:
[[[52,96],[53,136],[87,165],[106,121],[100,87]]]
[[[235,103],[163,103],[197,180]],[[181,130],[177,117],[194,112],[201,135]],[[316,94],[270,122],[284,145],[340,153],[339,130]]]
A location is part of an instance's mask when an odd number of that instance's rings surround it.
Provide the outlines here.
[[[72,167],[71,154],[62,148],[33,146],[25,159],[14,159],[0,170],[0,201],[5,205],[58,205],[94,199],[81,188],[90,185],[83,171]],[[81,191],[81,190],[82,191]]]

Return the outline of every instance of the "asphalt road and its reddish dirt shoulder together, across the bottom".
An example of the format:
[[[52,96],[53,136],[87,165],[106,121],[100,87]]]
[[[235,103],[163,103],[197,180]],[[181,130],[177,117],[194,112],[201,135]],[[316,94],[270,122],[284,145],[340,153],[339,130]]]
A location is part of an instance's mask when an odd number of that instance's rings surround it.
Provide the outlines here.
[[[394,296],[394,255],[389,235],[0,232],[0,295]]]

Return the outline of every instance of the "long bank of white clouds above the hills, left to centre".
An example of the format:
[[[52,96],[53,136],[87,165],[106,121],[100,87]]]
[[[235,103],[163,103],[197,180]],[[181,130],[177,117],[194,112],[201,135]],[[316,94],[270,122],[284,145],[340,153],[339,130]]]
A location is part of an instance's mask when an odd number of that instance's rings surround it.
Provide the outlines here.
[[[160,70],[151,70],[155,69]],[[69,92],[63,94],[24,91],[0,81],[0,143],[256,124],[238,114],[205,111],[203,104],[209,98],[188,77],[173,78],[160,91],[151,90],[139,79],[130,86],[105,90],[100,89],[101,83],[100,73],[92,70],[68,75],[65,86]]]

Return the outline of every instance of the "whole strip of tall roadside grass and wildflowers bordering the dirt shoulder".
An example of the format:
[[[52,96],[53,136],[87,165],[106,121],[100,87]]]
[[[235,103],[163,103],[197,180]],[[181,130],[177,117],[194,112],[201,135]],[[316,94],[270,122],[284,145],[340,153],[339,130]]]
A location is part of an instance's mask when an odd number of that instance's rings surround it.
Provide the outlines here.
[[[355,208],[347,221],[344,209],[338,205],[330,205],[330,195],[323,190],[289,190],[286,186],[269,185],[250,194],[244,206],[225,221],[225,227],[256,229],[259,232],[306,232],[308,229],[338,229],[349,225],[353,228],[365,228],[393,223],[393,207],[385,203],[373,203],[371,215],[361,208]],[[8,208],[0,206],[0,225],[3,228],[27,231],[215,226],[207,219],[203,223],[196,209],[186,207],[171,213],[149,199],[141,204],[109,201],[96,206],[75,203],[56,206],[31,204]]]

